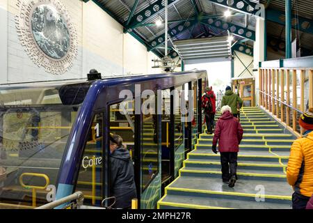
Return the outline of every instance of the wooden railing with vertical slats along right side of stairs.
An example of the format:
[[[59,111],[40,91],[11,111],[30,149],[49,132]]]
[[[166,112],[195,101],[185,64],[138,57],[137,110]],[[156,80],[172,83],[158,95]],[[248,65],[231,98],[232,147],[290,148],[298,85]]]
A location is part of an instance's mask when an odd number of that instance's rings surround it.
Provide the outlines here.
[[[259,68],[259,105],[298,135],[300,114],[313,107],[313,66],[308,59],[313,61],[313,57],[305,58],[307,63],[266,61]],[[307,66],[297,68],[296,64]]]

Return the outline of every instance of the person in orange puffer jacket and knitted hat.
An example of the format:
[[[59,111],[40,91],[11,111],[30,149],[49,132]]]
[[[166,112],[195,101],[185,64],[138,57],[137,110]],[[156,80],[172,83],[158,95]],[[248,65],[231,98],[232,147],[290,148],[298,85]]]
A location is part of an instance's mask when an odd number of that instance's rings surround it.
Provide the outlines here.
[[[313,108],[301,114],[299,124],[303,137],[292,144],[287,166],[293,209],[305,209],[313,194]]]

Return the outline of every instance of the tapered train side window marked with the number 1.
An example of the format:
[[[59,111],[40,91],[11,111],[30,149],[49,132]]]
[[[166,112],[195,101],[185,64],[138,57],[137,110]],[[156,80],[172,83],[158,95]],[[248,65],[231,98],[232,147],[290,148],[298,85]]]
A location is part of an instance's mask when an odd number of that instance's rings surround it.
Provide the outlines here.
[[[83,192],[84,204],[91,206],[101,206],[102,202],[102,130],[103,114],[96,114],[88,132],[77,180],[76,191]]]

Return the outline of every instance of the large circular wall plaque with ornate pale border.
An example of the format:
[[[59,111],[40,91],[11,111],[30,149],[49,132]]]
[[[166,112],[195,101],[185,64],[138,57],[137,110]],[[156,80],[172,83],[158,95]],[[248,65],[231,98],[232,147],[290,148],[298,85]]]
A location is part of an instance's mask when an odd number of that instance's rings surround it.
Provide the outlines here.
[[[60,75],[77,57],[77,31],[58,0],[17,0],[17,33],[29,57],[49,73]]]

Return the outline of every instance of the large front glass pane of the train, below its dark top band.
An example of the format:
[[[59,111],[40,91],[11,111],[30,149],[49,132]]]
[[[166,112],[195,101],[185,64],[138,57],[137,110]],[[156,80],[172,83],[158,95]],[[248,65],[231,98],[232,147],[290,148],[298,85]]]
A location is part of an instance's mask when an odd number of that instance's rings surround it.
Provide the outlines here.
[[[0,106],[0,208],[41,206],[54,197],[78,108],[8,104]]]

